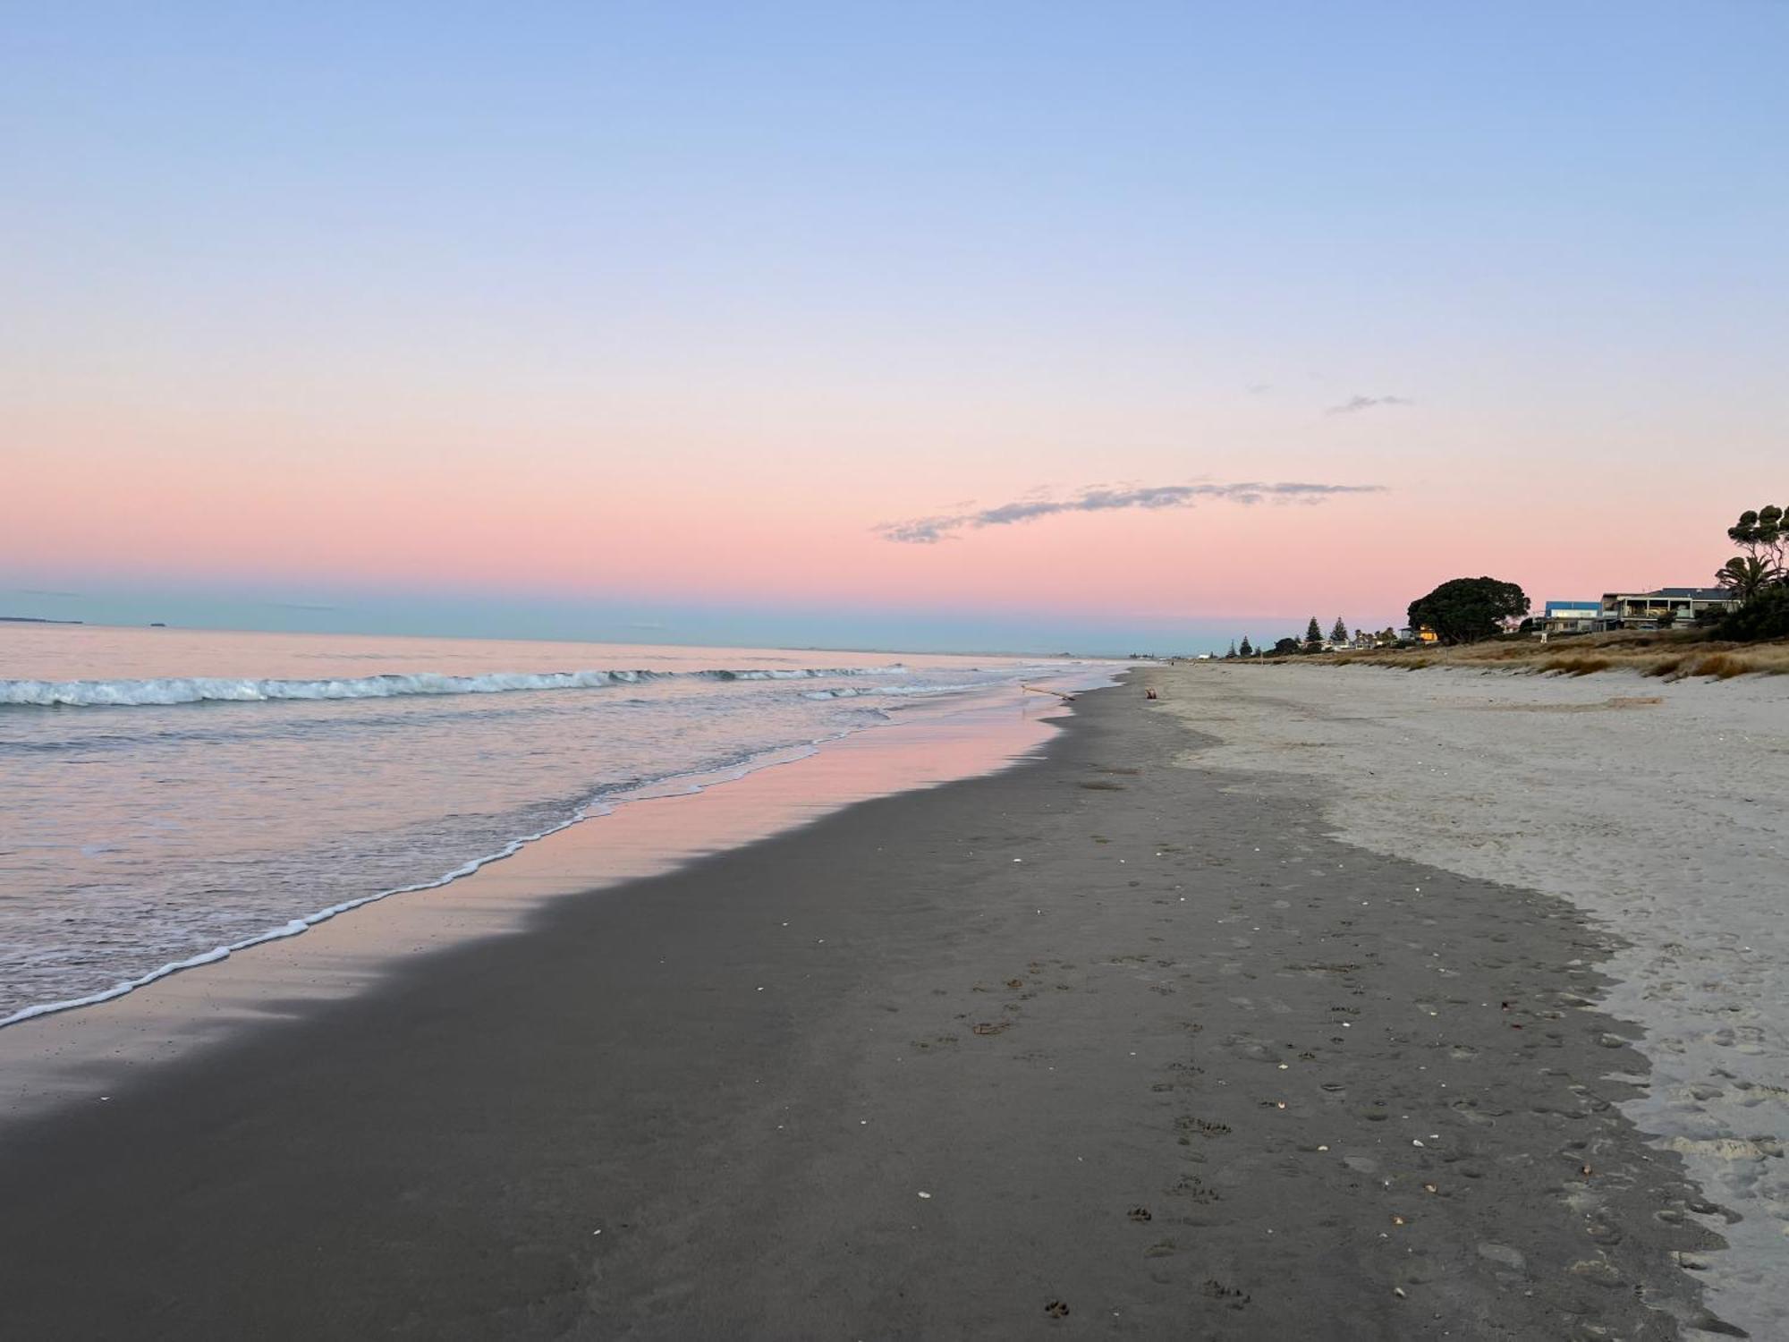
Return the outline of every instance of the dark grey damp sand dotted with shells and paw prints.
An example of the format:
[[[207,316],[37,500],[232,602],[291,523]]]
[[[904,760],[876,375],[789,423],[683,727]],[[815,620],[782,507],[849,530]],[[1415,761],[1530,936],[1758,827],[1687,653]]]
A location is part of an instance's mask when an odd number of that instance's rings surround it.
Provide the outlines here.
[[[9,1125],[0,1333],[1716,1324],[1610,932],[1211,768],[1200,673]]]

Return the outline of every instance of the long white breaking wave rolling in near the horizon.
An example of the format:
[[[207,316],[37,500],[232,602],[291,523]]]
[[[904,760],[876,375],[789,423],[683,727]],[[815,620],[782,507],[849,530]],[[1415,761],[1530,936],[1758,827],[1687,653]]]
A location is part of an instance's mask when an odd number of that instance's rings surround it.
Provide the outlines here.
[[[819,680],[896,675],[907,667],[789,667],[751,671],[488,671],[449,676],[438,671],[351,676],[343,680],[234,680],[168,676],[156,680],[0,680],[0,705],[127,709],[170,703],[267,703],[272,700],[388,700],[401,694],[503,694],[542,689],[605,689],[649,680]]]

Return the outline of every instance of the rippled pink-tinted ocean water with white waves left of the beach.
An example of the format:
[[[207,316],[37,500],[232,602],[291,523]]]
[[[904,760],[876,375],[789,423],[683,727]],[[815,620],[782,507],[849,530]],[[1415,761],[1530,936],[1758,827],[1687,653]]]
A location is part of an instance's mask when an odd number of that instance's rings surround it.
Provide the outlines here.
[[[0,624],[0,1025],[1070,658]]]

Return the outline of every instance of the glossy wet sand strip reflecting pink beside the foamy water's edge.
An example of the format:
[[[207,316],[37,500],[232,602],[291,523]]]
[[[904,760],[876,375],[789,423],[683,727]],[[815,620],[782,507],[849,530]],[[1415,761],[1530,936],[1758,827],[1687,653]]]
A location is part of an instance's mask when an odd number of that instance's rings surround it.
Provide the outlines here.
[[[419,954],[515,934],[555,898],[662,875],[868,798],[1011,768],[1066,712],[1018,692],[941,703],[737,773],[655,784],[438,880],[369,895],[84,998],[27,1007],[0,1023],[0,1140],[9,1122],[118,1090],[138,1068],[213,1049],[302,1011],[306,998],[352,997]]]

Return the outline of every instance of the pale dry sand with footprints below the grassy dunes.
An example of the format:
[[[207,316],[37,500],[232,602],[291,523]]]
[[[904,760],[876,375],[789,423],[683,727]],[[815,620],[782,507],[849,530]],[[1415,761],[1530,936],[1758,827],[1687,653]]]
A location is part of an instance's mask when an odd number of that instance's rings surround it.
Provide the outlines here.
[[[1163,692],[1224,741],[1190,766],[1626,939],[1601,1006],[1644,1027],[1653,1075],[1623,1108],[1741,1217],[1710,1304],[1789,1338],[1789,682],[1206,664]]]

